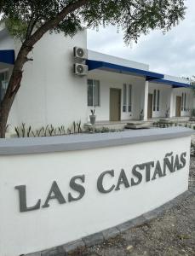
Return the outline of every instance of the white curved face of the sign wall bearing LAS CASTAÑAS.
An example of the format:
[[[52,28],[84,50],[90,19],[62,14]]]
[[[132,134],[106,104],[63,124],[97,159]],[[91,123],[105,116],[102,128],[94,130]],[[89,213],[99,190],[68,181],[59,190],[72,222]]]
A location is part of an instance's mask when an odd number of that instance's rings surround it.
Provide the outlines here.
[[[160,143],[77,150],[64,153],[1,156],[0,163],[0,255],[18,256],[105,230],[148,212],[187,190],[190,137],[162,140]],[[115,177],[106,177],[106,187],[116,184],[123,168],[128,178],[136,164],[160,160],[169,152],[187,153],[186,167],[135,187],[102,195],[96,188],[97,178],[106,170],[114,170]],[[155,154],[151,154],[155,153]],[[153,170],[153,169],[152,169]],[[60,205],[49,202],[49,208],[32,212],[19,211],[17,185],[26,185],[27,204],[37,199],[42,203],[56,181],[66,197],[69,181],[75,175],[85,175],[86,193],[82,200]],[[76,195],[74,195],[76,196]]]

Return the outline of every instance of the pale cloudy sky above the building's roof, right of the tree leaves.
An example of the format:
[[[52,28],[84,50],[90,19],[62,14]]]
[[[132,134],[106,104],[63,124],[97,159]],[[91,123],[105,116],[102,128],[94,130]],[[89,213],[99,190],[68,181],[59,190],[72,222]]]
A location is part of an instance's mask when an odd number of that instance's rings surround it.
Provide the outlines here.
[[[192,77],[195,75],[195,0],[186,0],[186,17],[165,35],[152,31],[138,44],[123,42],[123,32],[107,26],[88,32],[88,49],[150,65],[153,72]]]

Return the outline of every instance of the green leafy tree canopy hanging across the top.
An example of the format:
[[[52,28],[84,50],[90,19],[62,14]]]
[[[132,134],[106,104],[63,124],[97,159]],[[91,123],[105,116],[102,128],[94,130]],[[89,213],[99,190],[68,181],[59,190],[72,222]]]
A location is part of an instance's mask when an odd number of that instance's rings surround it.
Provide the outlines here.
[[[153,29],[168,31],[184,19],[185,0],[89,0],[69,12],[50,29],[73,35],[83,26],[117,25],[129,43]],[[25,40],[47,21],[54,20],[67,6],[79,0],[1,0],[0,13],[9,32]]]

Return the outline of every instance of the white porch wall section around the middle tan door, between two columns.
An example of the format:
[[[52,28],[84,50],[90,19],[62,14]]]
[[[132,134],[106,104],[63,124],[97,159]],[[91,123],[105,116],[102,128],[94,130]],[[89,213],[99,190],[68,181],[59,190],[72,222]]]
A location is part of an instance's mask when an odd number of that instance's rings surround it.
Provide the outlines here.
[[[159,111],[153,111],[153,108],[152,108],[152,118],[165,117],[165,112],[170,105],[170,95],[171,95],[172,87],[167,84],[149,83],[148,92],[153,95],[154,90],[160,90],[160,104],[159,104],[160,108],[159,108]],[[157,96],[156,96],[156,100],[157,100]]]

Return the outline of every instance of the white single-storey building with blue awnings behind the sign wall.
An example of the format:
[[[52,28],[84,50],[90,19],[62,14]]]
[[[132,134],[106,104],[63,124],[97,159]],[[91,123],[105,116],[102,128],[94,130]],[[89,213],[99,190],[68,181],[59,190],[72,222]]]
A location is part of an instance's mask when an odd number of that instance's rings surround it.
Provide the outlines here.
[[[152,73],[143,63],[88,50],[86,63],[73,48],[87,49],[87,32],[74,38],[49,33],[35,45],[26,63],[20,90],[9,114],[11,127],[22,122],[38,128],[48,124],[89,122],[95,106],[97,121],[189,117],[192,90],[186,79]],[[0,31],[1,98],[6,90],[20,43]],[[87,75],[73,73],[74,63],[88,65]]]

